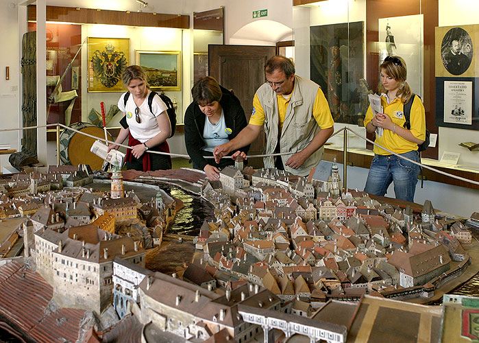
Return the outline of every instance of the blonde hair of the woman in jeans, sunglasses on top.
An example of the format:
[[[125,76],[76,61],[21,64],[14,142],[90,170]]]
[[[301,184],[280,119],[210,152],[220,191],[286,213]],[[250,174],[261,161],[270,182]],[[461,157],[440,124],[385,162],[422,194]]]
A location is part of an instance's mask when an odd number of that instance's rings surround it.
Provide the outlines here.
[[[397,89],[396,96],[401,98],[403,104],[407,104],[413,95],[413,90],[406,81],[408,75],[406,62],[404,62],[400,56],[388,56],[381,63],[379,71],[380,73],[384,71],[390,78],[402,82],[399,89]],[[386,93],[386,89],[382,83],[379,84],[378,91],[380,93]]]

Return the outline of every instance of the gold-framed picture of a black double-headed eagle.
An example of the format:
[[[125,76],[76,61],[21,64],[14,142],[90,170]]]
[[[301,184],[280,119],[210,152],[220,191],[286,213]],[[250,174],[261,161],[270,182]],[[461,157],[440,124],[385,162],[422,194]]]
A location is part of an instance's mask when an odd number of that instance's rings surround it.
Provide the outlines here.
[[[88,37],[88,92],[124,92],[121,74],[130,65],[130,38]]]

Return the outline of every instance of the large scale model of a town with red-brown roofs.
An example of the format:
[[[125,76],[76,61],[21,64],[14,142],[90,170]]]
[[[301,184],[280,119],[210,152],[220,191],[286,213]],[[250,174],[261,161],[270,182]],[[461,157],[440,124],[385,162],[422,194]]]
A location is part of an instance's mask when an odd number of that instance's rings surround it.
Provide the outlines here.
[[[148,269],[182,208],[164,182],[214,206],[196,237],[175,236],[172,274]],[[0,321],[21,342],[479,340],[479,299],[419,305],[478,272],[479,214],[344,189],[335,162],[307,178],[237,165],[217,182],[38,167],[0,178],[0,219]]]

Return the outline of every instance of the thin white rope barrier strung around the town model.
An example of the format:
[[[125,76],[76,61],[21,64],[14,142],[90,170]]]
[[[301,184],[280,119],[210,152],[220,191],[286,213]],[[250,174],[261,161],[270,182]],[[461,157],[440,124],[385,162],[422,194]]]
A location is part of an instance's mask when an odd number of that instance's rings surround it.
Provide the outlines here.
[[[54,123],[54,124],[47,124],[47,125],[42,125],[42,126],[29,126],[27,128],[13,128],[13,129],[0,129],[0,132],[7,132],[7,131],[18,131],[18,130],[29,130],[29,129],[36,129],[36,128],[48,128],[50,126],[60,126],[62,128],[64,128],[65,130],[72,130],[74,132],[77,132],[79,134],[83,134],[85,136],[88,136],[88,137],[91,137],[93,139],[98,139],[99,141],[104,141],[106,142],[107,144],[108,143],[114,143],[113,141],[108,141],[106,139],[101,139],[100,137],[96,137],[96,136],[93,136],[93,134],[88,134],[86,132],[81,132],[79,130],[75,130],[74,128],[70,128],[69,126],[65,126],[64,124],[62,123]],[[431,171],[434,171],[438,174],[441,174],[441,175],[444,175],[444,176],[448,176],[450,178],[455,178],[456,180],[461,180],[461,181],[464,181],[464,182],[469,182],[473,185],[479,185],[479,182],[478,181],[474,181],[474,180],[469,180],[467,178],[463,178],[463,177],[460,177],[460,176],[456,176],[456,175],[453,175],[453,174],[449,174],[449,173],[446,173],[445,171],[441,171],[439,169],[435,169],[433,167],[430,167],[428,165],[423,165],[422,163],[419,163],[419,162],[416,162],[416,161],[413,161],[409,158],[406,158],[404,156],[401,156],[400,154],[396,154],[395,152],[392,152],[391,150],[387,149],[386,147],[383,147],[381,145],[379,145],[378,143],[375,143],[374,141],[371,141],[371,139],[368,139],[367,137],[364,137],[364,136],[361,136],[361,134],[359,134],[358,132],[352,130],[351,128],[348,128],[348,127],[344,127],[344,128],[341,128],[339,130],[337,130],[336,132],[334,132],[331,137],[335,136],[336,134],[339,134],[340,132],[343,132],[343,131],[349,131],[349,132],[352,132],[354,134],[356,134],[357,137],[361,138],[361,139],[364,139],[365,141],[368,141],[369,143],[372,143],[373,145],[376,145],[384,150],[386,150],[387,152],[390,152],[391,154],[399,157],[399,158],[403,158],[404,160],[406,161],[409,161],[410,163],[414,163],[415,165],[419,165],[420,167],[423,167],[423,168],[426,168],[426,169],[429,169]],[[117,143],[114,143],[114,144],[117,144]],[[128,145],[123,145],[123,144],[117,144],[121,147],[125,147],[127,149],[133,149],[133,147],[130,147]],[[188,155],[185,155],[185,154],[175,154],[173,152],[156,152],[156,151],[148,151],[149,153],[151,154],[162,154],[162,155],[169,155],[171,157],[182,157],[182,158],[190,158],[190,156]],[[269,156],[283,156],[283,155],[290,155],[292,154],[291,152],[280,152],[280,153],[275,153],[275,154],[260,154],[260,155],[247,155],[247,158],[259,158],[259,157],[269,157]],[[205,158],[213,158],[212,156],[204,156]],[[223,156],[222,158],[229,158],[228,156]]]

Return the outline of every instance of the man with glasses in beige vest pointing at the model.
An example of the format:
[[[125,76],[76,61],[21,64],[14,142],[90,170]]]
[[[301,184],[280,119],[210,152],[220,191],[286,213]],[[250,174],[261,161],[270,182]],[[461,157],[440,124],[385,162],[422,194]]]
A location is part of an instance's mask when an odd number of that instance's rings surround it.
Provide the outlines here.
[[[321,161],[323,144],[333,132],[328,102],[315,82],[295,75],[293,62],[284,56],[270,58],[265,75],[265,84],[254,95],[248,125],[234,139],[215,147],[214,157],[219,163],[222,156],[252,143],[263,127],[265,154],[290,153],[265,157],[265,167],[307,176]]]

